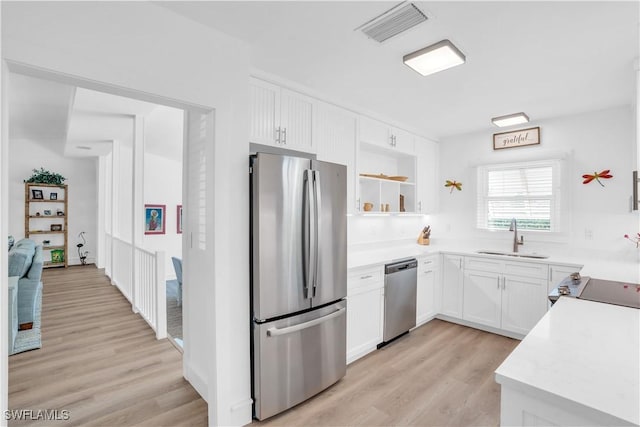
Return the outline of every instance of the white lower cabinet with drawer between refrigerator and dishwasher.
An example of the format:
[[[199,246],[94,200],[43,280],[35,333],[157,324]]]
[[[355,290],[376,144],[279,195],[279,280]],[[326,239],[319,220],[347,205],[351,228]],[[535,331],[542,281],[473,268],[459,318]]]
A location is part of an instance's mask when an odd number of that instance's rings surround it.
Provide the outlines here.
[[[347,363],[382,342],[384,266],[349,271],[347,281]]]

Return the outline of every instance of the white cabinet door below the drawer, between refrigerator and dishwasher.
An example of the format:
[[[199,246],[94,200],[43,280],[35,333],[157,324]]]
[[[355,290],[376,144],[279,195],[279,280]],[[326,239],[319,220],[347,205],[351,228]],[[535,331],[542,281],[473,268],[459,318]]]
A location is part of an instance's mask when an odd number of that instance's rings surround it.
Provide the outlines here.
[[[383,289],[347,297],[347,363],[376,349],[382,342]]]

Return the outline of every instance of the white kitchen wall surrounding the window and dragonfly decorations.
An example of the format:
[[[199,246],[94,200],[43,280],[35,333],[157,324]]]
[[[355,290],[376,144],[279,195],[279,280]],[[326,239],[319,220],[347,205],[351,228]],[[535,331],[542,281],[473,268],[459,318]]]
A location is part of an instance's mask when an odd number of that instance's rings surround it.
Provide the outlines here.
[[[541,144],[493,151],[492,132],[445,138],[440,143],[440,183],[455,179],[463,191],[440,189],[434,217],[436,239],[466,242],[477,249],[510,248],[513,233],[476,229],[476,169],[480,164],[519,162],[564,156],[563,217],[568,227],[551,239],[523,232],[522,251],[569,255],[585,263],[583,272],[618,280],[640,281],[637,249],[624,234],[637,232],[638,214],[630,212],[634,166],[635,115],[631,108],[591,112],[531,123],[540,126]],[[497,130],[496,130],[497,133]],[[605,187],[582,184],[582,175],[610,169]]]

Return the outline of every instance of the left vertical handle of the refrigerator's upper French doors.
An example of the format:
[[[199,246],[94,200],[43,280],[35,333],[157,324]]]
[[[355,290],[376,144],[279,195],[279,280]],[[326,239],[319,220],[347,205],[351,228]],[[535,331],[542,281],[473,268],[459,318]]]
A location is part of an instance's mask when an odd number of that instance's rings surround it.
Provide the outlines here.
[[[315,263],[316,258],[316,242],[317,236],[315,235],[315,222],[316,222],[316,207],[315,207],[315,191],[314,191],[314,176],[313,170],[307,169],[304,171],[304,214],[303,214],[303,228],[302,233],[303,250],[304,250],[304,297],[312,298],[310,288],[314,286],[315,278]]]

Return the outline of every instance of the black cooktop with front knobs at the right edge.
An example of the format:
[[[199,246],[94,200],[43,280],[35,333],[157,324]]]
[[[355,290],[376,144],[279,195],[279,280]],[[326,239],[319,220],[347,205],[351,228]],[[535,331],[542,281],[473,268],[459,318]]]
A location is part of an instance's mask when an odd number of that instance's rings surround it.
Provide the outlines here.
[[[615,282],[592,277],[581,277],[573,280],[571,277],[567,277],[551,291],[549,300],[553,303],[560,296],[640,308],[640,284],[634,283]]]

